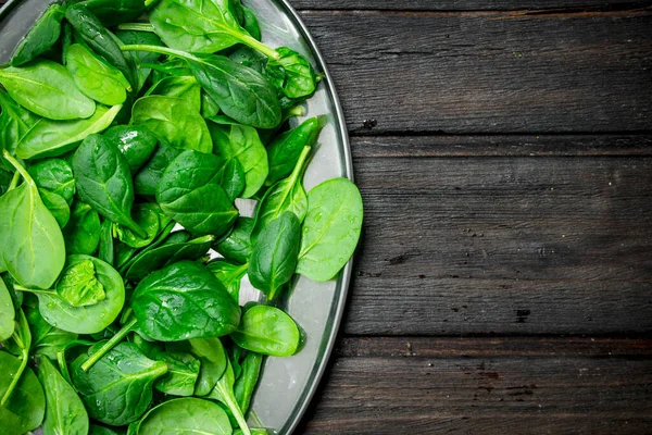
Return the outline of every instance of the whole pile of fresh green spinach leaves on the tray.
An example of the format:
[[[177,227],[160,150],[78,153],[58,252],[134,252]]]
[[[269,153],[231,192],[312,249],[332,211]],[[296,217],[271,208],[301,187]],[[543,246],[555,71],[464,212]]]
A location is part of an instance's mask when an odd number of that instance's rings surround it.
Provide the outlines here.
[[[240,0],[42,15],[0,69],[5,433],[266,433],[263,359],[301,343],[284,291],[336,277],[362,226],[350,181],[303,186],[318,82]]]

